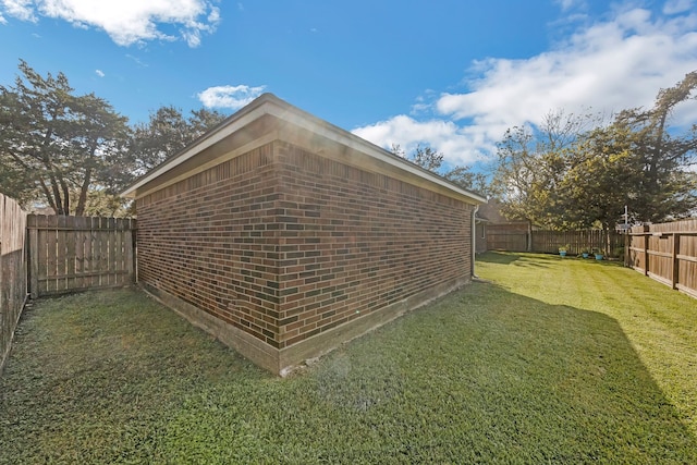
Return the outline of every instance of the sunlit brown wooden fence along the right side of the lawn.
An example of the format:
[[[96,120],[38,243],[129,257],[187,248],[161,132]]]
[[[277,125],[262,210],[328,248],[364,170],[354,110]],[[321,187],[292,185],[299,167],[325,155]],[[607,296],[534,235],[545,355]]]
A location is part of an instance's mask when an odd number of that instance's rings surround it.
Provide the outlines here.
[[[697,220],[632,228],[626,265],[697,297]]]

